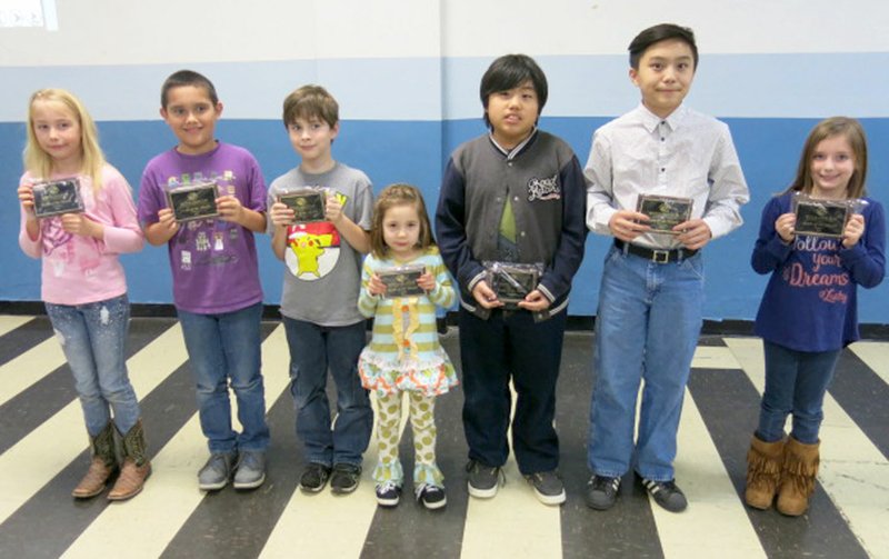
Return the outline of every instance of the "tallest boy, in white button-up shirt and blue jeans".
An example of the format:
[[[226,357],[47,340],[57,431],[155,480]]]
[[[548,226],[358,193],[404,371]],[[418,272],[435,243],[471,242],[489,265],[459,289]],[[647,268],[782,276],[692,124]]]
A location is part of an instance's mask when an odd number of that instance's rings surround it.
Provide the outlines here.
[[[698,66],[692,31],[655,26],[629,51],[630,79],[642,102],[596,131],[585,169],[587,227],[615,237],[596,319],[586,498],[593,509],[609,509],[635,453],[633,469],[651,497],[678,512],[687,500],[672,462],[702,321],[700,250],[741,224],[739,209],[749,193],[728,127],[682,104]],[[657,211],[642,213],[640,196],[682,199],[678,208],[690,204],[690,213],[672,221]],[[668,230],[652,218],[666,218]]]

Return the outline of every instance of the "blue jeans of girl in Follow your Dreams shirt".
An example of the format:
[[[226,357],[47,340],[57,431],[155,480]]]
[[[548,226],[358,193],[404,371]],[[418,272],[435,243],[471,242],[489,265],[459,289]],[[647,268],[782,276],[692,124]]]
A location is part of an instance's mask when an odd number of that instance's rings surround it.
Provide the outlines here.
[[[825,418],[825,392],[842,350],[796,351],[769,341],[763,342],[763,349],[766,390],[757,437],[766,442],[781,440],[787,416],[793,413],[790,435],[803,445],[815,445]]]

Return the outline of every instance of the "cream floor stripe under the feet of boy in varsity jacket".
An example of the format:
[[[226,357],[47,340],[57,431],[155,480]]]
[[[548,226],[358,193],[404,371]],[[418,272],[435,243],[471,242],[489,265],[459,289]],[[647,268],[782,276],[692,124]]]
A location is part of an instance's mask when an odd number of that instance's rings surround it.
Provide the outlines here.
[[[512,386],[510,390],[515,413],[516,391]],[[511,439],[511,429],[507,436]],[[503,473],[507,483],[493,499],[469,498],[460,557],[561,557],[560,508],[549,507],[537,500],[533,489],[519,472],[512,453],[503,467]],[[458,486],[456,490],[466,491],[465,479],[460,479],[458,483],[462,487]],[[451,483],[455,485],[457,483]]]

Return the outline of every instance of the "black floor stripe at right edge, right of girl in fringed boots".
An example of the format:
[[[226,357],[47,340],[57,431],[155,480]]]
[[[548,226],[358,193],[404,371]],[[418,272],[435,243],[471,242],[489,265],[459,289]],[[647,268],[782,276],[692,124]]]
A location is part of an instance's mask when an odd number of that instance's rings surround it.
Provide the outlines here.
[[[837,365],[830,396],[882,456],[889,458],[889,385],[858,356],[847,350],[842,352]],[[825,443],[830,445],[831,441]]]

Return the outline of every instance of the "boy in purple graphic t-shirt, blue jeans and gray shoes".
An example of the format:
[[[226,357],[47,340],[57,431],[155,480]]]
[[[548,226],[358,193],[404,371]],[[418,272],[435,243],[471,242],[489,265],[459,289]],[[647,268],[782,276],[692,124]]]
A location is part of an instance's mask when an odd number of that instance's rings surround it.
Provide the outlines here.
[[[266,480],[266,398],[260,371],[262,288],[254,232],[266,229],[266,186],[249,151],[217,141],[222,113],[216,88],[190,70],[161,89],[161,116],[179,144],[148,162],[139,189],[139,220],[148,242],[167,243],[176,303],[197,389],[210,459],[199,487],[252,489]],[[213,181],[217,217],[177,221],[172,188]],[[243,431],[231,427],[228,386]]]

